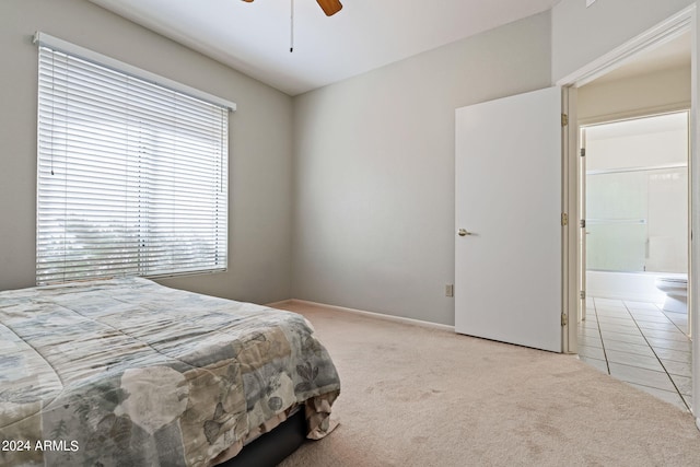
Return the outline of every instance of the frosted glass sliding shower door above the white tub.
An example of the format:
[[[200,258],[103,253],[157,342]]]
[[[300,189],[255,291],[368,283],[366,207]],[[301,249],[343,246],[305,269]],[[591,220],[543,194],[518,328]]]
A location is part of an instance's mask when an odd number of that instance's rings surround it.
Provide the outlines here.
[[[586,175],[586,267],[618,272],[687,270],[687,167]]]

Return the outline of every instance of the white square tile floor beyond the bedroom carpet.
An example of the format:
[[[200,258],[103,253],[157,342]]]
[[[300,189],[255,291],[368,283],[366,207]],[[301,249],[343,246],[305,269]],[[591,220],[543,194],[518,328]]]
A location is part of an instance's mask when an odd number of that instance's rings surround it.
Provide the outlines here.
[[[590,297],[579,359],[685,410],[691,407],[688,317],[648,302]]]

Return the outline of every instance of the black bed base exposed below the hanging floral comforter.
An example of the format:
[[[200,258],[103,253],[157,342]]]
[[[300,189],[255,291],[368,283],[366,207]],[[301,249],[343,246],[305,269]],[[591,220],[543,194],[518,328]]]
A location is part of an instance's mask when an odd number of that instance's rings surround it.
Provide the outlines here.
[[[306,440],[304,410],[247,444],[234,458],[218,467],[273,467],[292,454]]]

